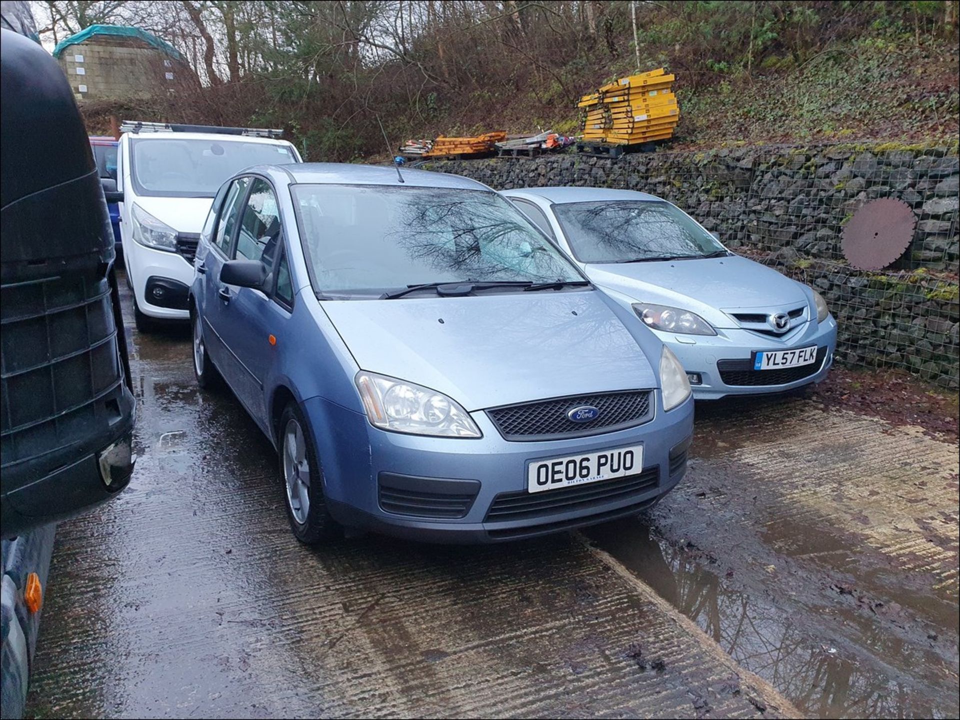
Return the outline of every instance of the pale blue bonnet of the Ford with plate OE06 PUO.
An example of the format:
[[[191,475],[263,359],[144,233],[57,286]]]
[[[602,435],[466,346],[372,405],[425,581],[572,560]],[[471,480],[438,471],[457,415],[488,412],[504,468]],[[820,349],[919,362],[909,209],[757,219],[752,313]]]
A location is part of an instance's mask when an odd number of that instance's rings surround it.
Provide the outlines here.
[[[323,307],[362,369],[438,390],[469,411],[657,386],[636,340],[593,290]]]

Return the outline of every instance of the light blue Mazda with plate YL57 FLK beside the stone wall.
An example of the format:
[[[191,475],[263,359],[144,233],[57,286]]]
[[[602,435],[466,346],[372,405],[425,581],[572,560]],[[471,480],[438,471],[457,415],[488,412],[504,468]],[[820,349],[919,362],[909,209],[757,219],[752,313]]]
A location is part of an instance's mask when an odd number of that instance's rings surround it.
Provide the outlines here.
[[[503,195],[674,351],[698,400],[827,378],[837,325],[824,298],[734,255],[666,200],[577,187]]]

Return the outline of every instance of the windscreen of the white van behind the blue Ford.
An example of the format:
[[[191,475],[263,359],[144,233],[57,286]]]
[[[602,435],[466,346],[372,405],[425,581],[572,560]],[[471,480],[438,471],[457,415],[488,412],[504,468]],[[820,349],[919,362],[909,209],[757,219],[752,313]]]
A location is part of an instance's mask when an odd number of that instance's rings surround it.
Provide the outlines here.
[[[214,197],[245,168],[297,161],[287,144],[152,137],[131,146],[133,185],[144,196]]]

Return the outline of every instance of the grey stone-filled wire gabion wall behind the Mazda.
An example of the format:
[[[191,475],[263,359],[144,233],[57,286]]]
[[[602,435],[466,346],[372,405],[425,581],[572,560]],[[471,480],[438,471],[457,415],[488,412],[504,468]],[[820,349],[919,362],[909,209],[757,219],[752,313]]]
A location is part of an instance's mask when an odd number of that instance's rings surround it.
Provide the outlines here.
[[[664,197],[737,253],[820,290],[840,325],[841,362],[904,368],[958,386],[955,148],[735,147],[618,158],[567,152],[423,167],[468,175],[497,190],[584,185]],[[916,232],[893,266],[854,269],[843,257],[843,227],[877,197],[910,205]]]

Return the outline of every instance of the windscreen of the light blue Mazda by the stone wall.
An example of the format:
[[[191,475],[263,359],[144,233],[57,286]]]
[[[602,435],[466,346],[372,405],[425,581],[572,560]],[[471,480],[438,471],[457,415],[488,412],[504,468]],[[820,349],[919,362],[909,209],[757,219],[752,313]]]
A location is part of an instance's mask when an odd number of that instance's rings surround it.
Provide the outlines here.
[[[604,200],[553,206],[581,263],[701,258],[724,246],[684,211],[661,200]]]

